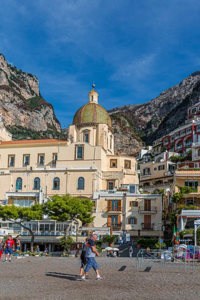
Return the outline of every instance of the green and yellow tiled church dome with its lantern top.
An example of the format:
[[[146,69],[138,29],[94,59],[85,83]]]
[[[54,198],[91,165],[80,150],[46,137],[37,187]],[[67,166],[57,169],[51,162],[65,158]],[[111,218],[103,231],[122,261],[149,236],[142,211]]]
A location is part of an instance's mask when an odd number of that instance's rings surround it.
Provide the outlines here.
[[[112,126],[108,112],[97,103],[97,92],[92,89],[89,93],[89,102],[80,107],[74,117],[73,125],[88,125],[89,123],[103,123]]]

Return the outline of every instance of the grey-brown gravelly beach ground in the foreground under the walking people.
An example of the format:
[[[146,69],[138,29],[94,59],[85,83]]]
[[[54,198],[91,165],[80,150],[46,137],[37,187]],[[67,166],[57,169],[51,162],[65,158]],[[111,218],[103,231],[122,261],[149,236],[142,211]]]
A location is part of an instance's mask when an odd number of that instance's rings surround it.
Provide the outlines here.
[[[3,257],[4,258],[4,255]],[[87,282],[80,281],[79,258],[12,257],[0,262],[0,299],[6,300],[104,300],[104,299],[193,299],[200,297],[200,263],[191,269],[144,268],[136,273],[135,258],[97,257],[96,280],[89,271]]]

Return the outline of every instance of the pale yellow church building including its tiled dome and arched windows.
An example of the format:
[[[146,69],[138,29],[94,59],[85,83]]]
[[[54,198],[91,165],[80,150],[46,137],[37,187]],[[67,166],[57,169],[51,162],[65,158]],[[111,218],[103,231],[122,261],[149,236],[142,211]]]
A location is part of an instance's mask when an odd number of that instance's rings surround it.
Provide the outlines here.
[[[138,184],[136,159],[114,155],[111,119],[98,104],[94,89],[75,113],[65,140],[11,140],[4,131],[0,141],[1,200],[8,200],[8,194],[15,202],[19,193],[34,197],[40,189],[43,198],[37,194],[39,201],[65,193],[92,198],[93,192],[102,189]]]

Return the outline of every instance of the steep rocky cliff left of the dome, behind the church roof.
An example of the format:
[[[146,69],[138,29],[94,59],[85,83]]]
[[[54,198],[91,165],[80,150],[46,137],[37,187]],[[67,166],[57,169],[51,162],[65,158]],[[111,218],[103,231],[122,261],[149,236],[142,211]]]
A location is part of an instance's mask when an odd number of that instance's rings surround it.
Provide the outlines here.
[[[0,54],[0,112],[5,126],[14,129],[38,131],[41,136],[60,132],[53,106],[39,93],[38,79],[7,63]],[[16,130],[17,131],[17,130]],[[39,133],[37,134],[39,137]],[[28,136],[26,136],[28,137]]]

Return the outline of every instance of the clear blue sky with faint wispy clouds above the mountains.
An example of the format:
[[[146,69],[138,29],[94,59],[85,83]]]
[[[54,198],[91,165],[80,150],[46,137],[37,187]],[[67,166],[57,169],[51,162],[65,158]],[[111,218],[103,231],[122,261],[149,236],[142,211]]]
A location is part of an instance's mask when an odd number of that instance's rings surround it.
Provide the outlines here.
[[[200,69],[199,0],[0,0],[0,52],[39,79],[61,126],[92,80],[106,109]]]

